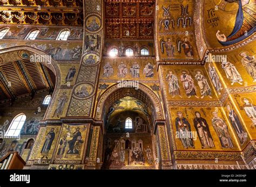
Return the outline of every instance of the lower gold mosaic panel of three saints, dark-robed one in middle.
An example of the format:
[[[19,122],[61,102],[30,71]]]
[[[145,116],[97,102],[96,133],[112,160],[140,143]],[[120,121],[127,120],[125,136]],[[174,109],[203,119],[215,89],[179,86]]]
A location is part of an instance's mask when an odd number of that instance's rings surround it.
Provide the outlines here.
[[[238,149],[233,143],[235,139],[232,138],[235,129],[220,107],[170,109],[171,116],[174,117],[173,124],[176,126],[175,137],[180,139],[177,141],[179,149]]]

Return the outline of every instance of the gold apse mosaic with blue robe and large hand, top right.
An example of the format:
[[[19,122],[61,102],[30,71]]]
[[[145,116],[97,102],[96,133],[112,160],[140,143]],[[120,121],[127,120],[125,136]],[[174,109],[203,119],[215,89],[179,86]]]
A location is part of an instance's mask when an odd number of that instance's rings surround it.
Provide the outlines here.
[[[255,2],[212,0],[205,4],[204,25],[212,47],[236,44],[255,32]],[[225,18],[229,17],[229,20]],[[230,21],[232,20],[232,21]]]

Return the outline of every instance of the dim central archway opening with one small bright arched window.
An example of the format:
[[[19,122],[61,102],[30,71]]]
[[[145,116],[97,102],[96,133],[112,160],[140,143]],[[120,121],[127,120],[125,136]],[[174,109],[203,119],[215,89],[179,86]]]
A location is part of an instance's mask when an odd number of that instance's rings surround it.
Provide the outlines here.
[[[118,93],[118,94],[117,94]],[[120,88],[104,103],[103,169],[154,169],[156,112],[142,90]]]

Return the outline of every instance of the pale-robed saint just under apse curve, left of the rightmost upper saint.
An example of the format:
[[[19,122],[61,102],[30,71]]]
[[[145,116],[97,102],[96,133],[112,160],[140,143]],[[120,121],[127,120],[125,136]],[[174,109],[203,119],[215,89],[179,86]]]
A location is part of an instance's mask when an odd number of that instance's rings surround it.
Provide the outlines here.
[[[225,70],[228,80],[231,81],[231,85],[233,85],[235,82],[242,84],[242,77],[233,63],[227,61],[226,58],[223,58],[221,68]]]

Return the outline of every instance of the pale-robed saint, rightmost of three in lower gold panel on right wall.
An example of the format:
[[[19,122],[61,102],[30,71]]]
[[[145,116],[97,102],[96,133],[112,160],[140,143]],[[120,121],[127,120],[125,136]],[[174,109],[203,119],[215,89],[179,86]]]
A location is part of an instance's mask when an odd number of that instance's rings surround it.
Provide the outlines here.
[[[213,112],[212,126],[218,135],[221,143],[221,147],[233,148],[230,133],[228,132],[227,124],[224,119],[218,116],[218,112]]]

